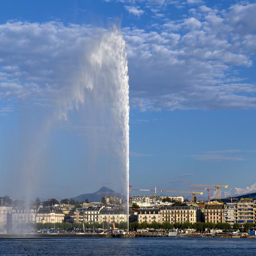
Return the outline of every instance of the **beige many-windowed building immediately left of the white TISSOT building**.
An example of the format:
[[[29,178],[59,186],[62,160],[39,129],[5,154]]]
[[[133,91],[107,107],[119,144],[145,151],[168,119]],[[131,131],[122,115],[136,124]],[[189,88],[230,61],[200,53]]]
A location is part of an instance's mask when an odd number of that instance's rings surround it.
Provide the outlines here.
[[[224,204],[206,204],[204,218],[205,222],[224,222]]]

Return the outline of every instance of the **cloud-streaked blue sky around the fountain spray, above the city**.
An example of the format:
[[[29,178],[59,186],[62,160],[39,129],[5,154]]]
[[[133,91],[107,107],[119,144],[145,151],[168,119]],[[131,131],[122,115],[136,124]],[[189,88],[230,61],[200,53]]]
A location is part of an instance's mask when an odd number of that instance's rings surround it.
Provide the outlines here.
[[[80,32],[90,24],[92,31],[113,24],[122,30],[130,78],[130,184],[134,188],[254,184],[255,13],[253,1],[1,1],[0,168],[4,178],[0,194],[17,196],[10,186],[15,177],[10,162],[20,157],[21,131],[29,124],[29,131],[38,129],[40,116],[50,113],[45,106],[50,104],[47,95],[52,84],[42,86],[36,79],[30,83],[27,75],[38,78],[38,69],[45,68],[40,60],[52,54],[38,46],[72,44],[65,28],[74,24]],[[53,28],[64,31],[54,42],[48,40]],[[44,32],[36,34],[40,30]],[[22,38],[32,42],[29,47],[16,44]],[[41,52],[34,51],[36,46]],[[35,61],[34,67],[17,62],[22,54]],[[55,64],[60,65],[64,57]],[[58,68],[57,74],[63,70]],[[47,79],[47,73],[44,76]],[[62,125],[47,137],[42,156],[54,182],[44,178],[38,196],[76,196],[103,185],[116,188],[111,178],[89,181],[84,171],[88,162],[79,157],[88,151],[86,142]],[[107,156],[102,153],[99,158],[98,168],[105,173]],[[72,180],[73,174],[81,179]]]

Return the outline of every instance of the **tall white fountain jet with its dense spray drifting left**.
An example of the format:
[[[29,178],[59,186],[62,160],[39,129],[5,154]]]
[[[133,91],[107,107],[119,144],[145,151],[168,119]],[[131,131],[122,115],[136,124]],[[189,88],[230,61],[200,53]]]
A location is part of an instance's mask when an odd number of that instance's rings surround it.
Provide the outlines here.
[[[67,88],[68,94],[61,100],[59,118],[68,118],[68,110],[79,109],[79,104],[84,105],[86,101],[90,104],[96,99],[98,111],[108,109],[111,125],[112,147],[115,148],[121,163],[123,180],[125,186],[124,196],[127,204],[127,222],[129,230],[129,83],[128,62],[125,41],[120,30],[115,27],[105,31],[99,44],[88,53],[82,54],[78,74],[73,87]],[[64,99],[64,100],[63,100]],[[64,104],[63,104],[64,103]],[[94,102],[95,103],[95,102]],[[99,107],[101,104],[101,107]],[[85,108],[86,109],[86,108]],[[102,119],[106,118],[101,116]],[[106,122],[106,120],[105,120]]]

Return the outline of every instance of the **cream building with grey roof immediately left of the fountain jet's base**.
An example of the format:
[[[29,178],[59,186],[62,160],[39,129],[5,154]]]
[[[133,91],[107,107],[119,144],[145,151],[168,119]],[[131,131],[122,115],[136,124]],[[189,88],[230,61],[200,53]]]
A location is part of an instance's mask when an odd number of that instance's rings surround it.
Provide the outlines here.
[[[127,222],[127,212],[125,208],[104,207],[100,210],[99,222]]]

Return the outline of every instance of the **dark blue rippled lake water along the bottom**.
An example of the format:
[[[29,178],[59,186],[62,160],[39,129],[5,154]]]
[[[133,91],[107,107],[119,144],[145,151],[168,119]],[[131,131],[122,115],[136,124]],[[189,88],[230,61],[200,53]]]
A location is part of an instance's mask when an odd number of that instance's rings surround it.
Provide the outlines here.
[[[0,256],[250,256],[256,239],[244,238],[46,238],[0,240]]]

